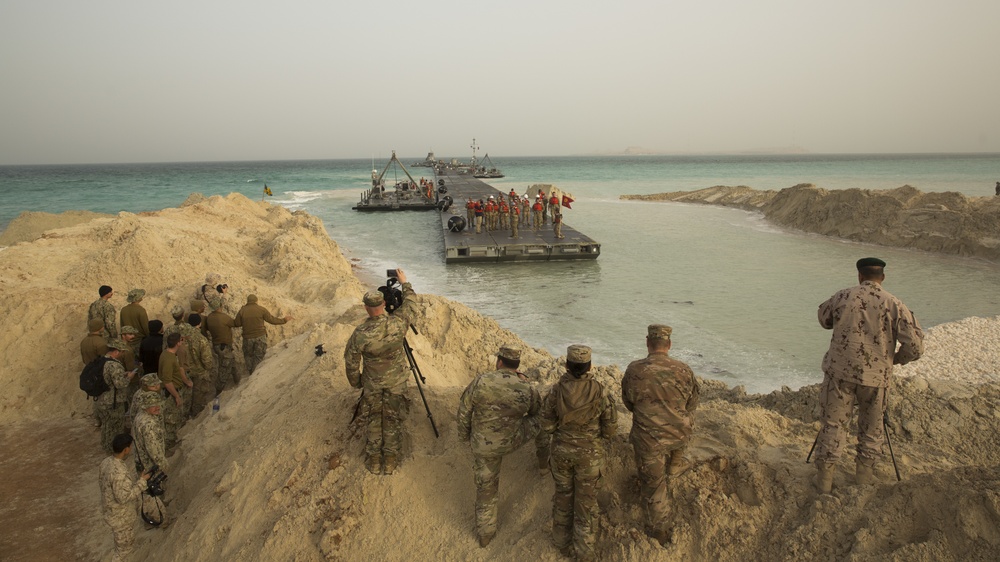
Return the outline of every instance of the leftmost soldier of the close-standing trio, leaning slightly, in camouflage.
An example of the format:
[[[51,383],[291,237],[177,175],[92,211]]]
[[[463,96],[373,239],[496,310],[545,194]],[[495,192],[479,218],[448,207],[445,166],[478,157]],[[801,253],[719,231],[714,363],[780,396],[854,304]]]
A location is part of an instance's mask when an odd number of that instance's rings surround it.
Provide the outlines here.
[[[517,372],[521,351],[501,347],[493,371],[477,375],[458,404],[458,437],[472,442],[476,532],[485,547],[496,535],[500,462],[538,434],[538,391]]]

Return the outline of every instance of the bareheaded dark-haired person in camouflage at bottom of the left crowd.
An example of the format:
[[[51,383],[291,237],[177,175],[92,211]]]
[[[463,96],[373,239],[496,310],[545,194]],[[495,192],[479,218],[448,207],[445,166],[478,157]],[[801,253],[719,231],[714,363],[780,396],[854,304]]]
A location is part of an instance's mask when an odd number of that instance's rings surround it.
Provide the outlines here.
[[[132,436],[116,435],[112,455],[101,461],[98,482],[101,487],[101,512],[104,522],[111,527],[115,540],[112,562],[126,560],[135,545],[135,519],[139,497],[146,490],[149,474],[133,478],[125,462],[132,452]]]

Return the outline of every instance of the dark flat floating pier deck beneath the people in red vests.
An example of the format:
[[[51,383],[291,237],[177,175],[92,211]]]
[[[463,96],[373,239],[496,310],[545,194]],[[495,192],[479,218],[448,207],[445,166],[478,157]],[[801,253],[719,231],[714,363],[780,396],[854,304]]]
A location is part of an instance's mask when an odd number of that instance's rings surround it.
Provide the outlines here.
[[[438,185],[441,180],[444,180],[447,195],[454,201],[447,211],[440,213],[445,263],[593,260],[601,255],[601,245],[596,240],[566,222],[562,225],[563,238],[555,237],[551,221],[547,221],[537,232],[531,226],[522,225],[518,228],[517,238],[511,238],[510,229],[487,231],[485,226],[481,233],[476,234],[475,225],[466,225],[461,232],[452,232],[448,228],[448,220],[453,216],[465,219],[465,204],[470,198],[485,201],[490,195],[499,198],[507,194],[472,177],[472,174],[461,174],[456,170],[439,171]],[[563,209],[564,221],[572,214],[571,209]]]

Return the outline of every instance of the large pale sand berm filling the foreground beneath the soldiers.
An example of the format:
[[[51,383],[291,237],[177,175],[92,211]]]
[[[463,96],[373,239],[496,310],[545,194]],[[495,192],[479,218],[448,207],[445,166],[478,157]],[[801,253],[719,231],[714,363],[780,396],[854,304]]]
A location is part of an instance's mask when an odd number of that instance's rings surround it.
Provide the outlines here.
[[[525,447],[505,460],[499,531],[474,534],[472,457],[456,437],[459,396],[501,344],[525,349],[523,370],[544,387],[563,358],[533,349],[461,304],[419,294],[409,341],[427,378],[435,438],[411,384],[401,468],[374,476],[363,429],[348,421],[358,393],[344,344],[365,315],[368,287],[315,217],[238,194],[194,195],[179,208],[58,221],[22,217],[24,241],[0,251],[0,557],[100,560],[99,436],[77,386],[78,342],[97,288],[146,290],[151,318],[168,318],[207,272],[294,320],[270,328],[258,371],[181,431],[171,457],[165,529],[139,529],[144,560],[542,560],[550,541],[551,477]],[[43,226],[42,228],[48,228]],[[405,264],[400,264],[405,267]],[[420,291],[419,272],[411,272]],[[644,326],[636,326],[641,337]],[[888,454],[878,483],[837,467],[818,497],[804,462],[816,435],[817,387],[747,395],[702,379],[689,454],[671,483],[672,542],[641,532],[637,483],[620,406],[599,496],[600,560],[993,560],[1000,556],[1000,383],[997,318],[929,330],[927,355],[898,369],[889,419],[902,482]],[[567,342],[572,343],[572,342]],[[328,351],[317,356],[314,348]],[[817,362],[820,358],[817,358]],[[596,366],[618,394],[621,370]],[[543,388],[544,392],[544,388]]]

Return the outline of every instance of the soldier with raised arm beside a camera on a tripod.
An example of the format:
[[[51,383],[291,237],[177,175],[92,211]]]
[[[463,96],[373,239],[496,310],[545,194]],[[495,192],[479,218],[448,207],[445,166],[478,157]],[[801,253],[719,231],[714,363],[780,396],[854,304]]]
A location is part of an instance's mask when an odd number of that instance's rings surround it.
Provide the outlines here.
[[[410,370],[403,340],[414,316],[413,287],[397,269],[403,304],[389,315],[382,293],[365,293],[368,319],[355,328],[344,349],[347,380],[363,388],[368,423],[365,467],[373,474],[392,474],[399,461],[402,422],[406,414],[406,381]]]

